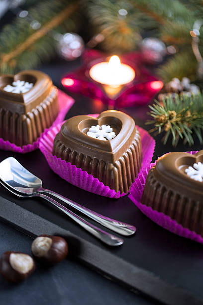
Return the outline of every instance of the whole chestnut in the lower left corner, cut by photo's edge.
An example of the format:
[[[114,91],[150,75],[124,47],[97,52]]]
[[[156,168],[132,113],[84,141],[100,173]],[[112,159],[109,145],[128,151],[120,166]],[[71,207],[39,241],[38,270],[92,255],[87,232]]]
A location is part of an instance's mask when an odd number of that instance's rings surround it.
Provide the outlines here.
[[[21,282],[34,272],[34,270],[35,262],[28,254],[7,251],[1,256],[0,273],[10,282]]]

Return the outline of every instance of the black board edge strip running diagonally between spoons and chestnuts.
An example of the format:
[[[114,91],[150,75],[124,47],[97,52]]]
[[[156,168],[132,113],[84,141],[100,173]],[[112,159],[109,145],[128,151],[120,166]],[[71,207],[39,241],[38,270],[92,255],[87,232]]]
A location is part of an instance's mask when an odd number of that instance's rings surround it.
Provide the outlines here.
[[[69,243],[72,257],[84,261],[104,275],[110,275],[131,290],[138,290],[161,303],[203,304],[201,300],[192,296],[185,289],[170,285],[157,275],[123,260],[107,247],[103,249],[100,245],[89,242],[5,198],[1,198],[0,219],[30,237],[40,235],[41,232],[63,236]]]

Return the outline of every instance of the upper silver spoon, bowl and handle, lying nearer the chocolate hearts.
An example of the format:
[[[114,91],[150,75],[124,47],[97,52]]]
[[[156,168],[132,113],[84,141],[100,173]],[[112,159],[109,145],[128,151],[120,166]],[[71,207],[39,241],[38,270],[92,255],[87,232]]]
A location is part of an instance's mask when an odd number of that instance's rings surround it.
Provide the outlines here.
[[[0,163],[0,179],[10,188],[14,189],[14,191],[24,195],[38,196],[39,193],[52,195],[67,203],[69,206],[74,207],[94,221],[121,235],[129,236],[136,232],[136,228],[133,225],[105,217],[62,195],[44,189],[42,187],[42,180],[29,172],[13,157],[9,157]]]

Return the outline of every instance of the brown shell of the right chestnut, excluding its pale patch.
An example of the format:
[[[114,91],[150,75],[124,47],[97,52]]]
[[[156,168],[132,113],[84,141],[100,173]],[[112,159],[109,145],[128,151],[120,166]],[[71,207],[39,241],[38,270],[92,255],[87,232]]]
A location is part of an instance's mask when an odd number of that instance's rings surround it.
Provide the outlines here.
[[[60,261],[64,260],[68,255],[68,243],[67,241],[60,236],[54,235],[39,235],[38,237],[48,237],[51,238],[52,244],[49,250],[43,256],[37,256],[32,251],[32,255],[41,264],[52,266]]]

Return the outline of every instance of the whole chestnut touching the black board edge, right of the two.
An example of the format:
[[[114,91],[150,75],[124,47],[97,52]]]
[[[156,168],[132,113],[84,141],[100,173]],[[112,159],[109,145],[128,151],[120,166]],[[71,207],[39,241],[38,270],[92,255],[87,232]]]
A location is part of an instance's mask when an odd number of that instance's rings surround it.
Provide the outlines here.
[[[68,244],[64,238],[52,235],[40,235],[32,242],[34,258],[45,265],[55,265],[68,255]]]

